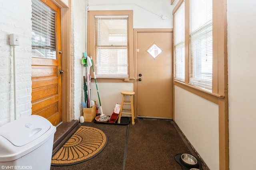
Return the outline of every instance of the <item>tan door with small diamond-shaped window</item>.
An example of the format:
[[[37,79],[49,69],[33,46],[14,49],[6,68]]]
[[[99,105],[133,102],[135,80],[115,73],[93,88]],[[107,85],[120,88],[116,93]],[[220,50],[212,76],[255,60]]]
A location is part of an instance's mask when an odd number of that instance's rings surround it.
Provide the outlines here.
[[[138,32],[136,77],[138,117],[172,119],[172,32]]]

